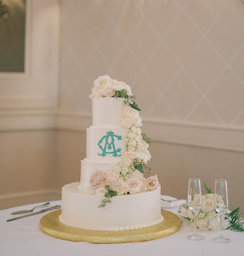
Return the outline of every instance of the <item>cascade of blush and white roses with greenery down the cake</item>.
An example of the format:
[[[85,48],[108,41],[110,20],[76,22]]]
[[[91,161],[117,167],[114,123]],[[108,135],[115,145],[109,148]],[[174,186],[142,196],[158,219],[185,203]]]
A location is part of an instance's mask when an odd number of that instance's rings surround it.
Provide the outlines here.
[[[116,195],[135,194],[146,189],[156,189],[160,186],[157,175],[147,179],[143,176],[143,169],[149,174],[151,171],[146,164],[151,158],[148,147],[152,140],[140,129],[142,126],[142,118],[139,116],[140,109],[129,85],[104,75],[94,81],[91,92],[90,98],[125,98],[121,128],[129,129],[124,138],[126,151],[123,153],[122,161],[114,165],[112,170],[97,170],[91,177],[90,184],[96,189],[95,195],[105,196],[99,207],[110,203],[110,199]]]

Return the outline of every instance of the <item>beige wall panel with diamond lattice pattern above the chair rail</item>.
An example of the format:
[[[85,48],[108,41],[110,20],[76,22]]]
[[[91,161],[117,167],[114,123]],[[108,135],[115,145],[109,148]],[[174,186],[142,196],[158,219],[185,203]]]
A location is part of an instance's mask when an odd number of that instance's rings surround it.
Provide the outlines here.
[[[241,0],[61,0],[59,111],[93,81],[131,85],[145,119],[244,126]]]

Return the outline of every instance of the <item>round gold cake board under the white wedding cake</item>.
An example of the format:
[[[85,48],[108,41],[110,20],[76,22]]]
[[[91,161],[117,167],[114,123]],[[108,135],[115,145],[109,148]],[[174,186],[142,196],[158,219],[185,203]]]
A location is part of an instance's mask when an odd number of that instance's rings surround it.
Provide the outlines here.
[[[172,235],[181,226],[179,216],[161,209],[164,220],[159,224],[143,229],[124,231],[96,231],[72,228],[60,222],[61,209],[44,215],[39,223],[41,231],[55,238],[90,243],[130,243],[154,240]]]

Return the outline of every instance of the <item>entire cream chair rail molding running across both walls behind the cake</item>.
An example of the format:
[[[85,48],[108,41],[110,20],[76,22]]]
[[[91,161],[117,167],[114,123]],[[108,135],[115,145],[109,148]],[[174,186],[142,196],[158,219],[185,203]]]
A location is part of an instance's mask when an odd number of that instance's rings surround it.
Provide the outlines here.
[[[56,111],[1,111],[0,131],[57,129],[86,132],[91,115]],[[157,142],[244,152],[244,128],[143,119],[143,131]]]

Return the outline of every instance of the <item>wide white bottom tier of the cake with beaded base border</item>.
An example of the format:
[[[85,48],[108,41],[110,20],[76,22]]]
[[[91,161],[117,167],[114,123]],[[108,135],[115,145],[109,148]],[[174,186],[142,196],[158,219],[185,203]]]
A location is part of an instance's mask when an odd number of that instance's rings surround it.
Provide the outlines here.
[[[163,221],[160,187],[133,195],[115,196],[104,208],[102,197],[79,191],[79,182],[62,187],[62,214],[67,226],[90,230],[118,231],[147,228]]]

